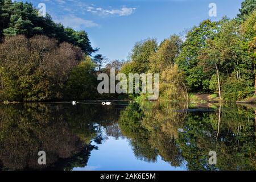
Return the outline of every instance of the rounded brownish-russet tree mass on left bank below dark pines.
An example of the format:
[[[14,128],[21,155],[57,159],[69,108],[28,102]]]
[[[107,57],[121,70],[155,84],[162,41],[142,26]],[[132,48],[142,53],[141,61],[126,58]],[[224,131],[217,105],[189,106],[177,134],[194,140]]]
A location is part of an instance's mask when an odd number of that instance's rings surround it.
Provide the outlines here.
[[[63,98],[64,83],[82,59],[80,48],[38,35],[6,38],[0,44],[1,100]]]

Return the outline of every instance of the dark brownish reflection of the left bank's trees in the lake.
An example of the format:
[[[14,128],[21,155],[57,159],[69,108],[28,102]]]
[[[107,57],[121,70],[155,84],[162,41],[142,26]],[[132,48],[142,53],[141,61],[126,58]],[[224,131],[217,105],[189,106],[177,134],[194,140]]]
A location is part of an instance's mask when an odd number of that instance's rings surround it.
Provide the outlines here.
[[[95,148],[90,144],[97,137],[94,122],[106,111],[98,107],[0,105],[0,167],[63,170],[86,166]],[[38,164],[40,150],[46,151],[46,166]]]

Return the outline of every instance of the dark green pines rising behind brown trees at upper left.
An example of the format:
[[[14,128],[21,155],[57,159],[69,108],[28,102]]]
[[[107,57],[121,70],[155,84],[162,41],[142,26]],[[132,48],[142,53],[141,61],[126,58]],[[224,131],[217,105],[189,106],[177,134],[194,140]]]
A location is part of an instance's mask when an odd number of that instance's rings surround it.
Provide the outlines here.
[[[75,31],[64,28],[62,24],[53,22],[50,15],[39,16],[38,10],[31,3],[0,1],[0,39],[3,36],[46,35],[59,43],[68,42],[79,46],[86,55],[91,55],[98,49],[93,49],[85,31]]]

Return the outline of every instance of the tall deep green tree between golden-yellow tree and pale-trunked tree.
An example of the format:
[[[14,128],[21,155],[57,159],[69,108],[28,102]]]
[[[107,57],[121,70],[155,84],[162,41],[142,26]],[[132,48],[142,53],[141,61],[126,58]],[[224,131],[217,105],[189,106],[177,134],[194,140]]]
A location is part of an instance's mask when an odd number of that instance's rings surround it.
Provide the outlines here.
[[[201,49],[207,47],[207,40],[216,35],[218,22],[204,20],[199,26],[188,31],[185,42],[181,46],[181,52],[176,59],[179,69],[186,74],[186,82],[193,92],[209,90],[209,80],[212,74],[205,72],[199,65],[198,59]]]

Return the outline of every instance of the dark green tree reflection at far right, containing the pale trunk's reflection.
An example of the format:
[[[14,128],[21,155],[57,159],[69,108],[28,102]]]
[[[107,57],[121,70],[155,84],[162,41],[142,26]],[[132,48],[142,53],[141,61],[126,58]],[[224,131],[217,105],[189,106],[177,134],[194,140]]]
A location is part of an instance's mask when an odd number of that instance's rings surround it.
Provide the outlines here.
[[[189,113],[180,148],[189,169],[249,170],[255,166],[254,113],[246,107],[222,106],[214,113]],[[217,165],[208,164],[209,151]]]

